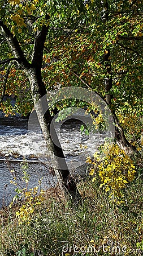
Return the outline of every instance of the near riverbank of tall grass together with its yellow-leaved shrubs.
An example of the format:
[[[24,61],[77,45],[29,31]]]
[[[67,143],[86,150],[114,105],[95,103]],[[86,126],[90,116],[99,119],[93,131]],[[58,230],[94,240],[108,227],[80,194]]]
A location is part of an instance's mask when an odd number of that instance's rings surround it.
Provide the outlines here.
[[[58,185],[40,191],[39,180],[28,189],[26,162],[24,188],[11,170],[16,196],[1,209],[1,255],[142,255],[141,148],[130,158],[113,144],[103,159],[97,153],[87,158],[89,176],[77,184],[79,205],[66,200]],[[106,152],[107,143],[100,150]]]

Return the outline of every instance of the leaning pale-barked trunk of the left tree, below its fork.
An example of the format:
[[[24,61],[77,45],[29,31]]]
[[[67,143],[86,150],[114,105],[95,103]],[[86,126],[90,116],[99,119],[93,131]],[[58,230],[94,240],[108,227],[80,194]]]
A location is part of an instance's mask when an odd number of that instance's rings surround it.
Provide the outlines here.
[[[32,92],[32,99],[34,102],[34,108],[36,110],[37,118],[40,123],[42,133],[44,134],[44,138],[46,141],[46,146],[50,154],[52,168],[57,176],[58,183],[60,188],[63,189],[64,194],[71,196],[72,200],[77,203],[80,199],[80,193],[77,190],[76,183],[72,179],[70,175],[70,171],[68,170],[66,160],[64,158],[63,150],[61,147],[58,147],[57,144],[53,142],[50,135],[50,125],[53,117],[49,112],[46,97],[44,101],[40,101],[40,99],[46,95],[46,89],[44,82],[42,81],[41,71],[38,68],[29,68],[28,71],[25,72],[29,82],[31,84],[31,92]],[[37,104],[38,102],[38,104]],[[46,112],[45,112],[46,109]],[[54,130],[54,126],[52,127],[55,140],[58,141],[57,134]],[[62,158],[62,166],[57,158]]]

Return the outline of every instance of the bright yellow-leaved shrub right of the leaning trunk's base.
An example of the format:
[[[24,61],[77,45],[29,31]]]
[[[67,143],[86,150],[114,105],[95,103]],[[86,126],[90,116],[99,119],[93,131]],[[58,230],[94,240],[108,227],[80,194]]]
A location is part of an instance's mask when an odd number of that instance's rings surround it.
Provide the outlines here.
[[[94,154],[94,160],[88,158],[92,166],[89,174],[93,177],[93,182],[98,174],[101,179],[100,187],[109,192],[111,201],[115,202],[123,197],[122,189],[129,181],[135,178],[135,165],[131,158],[125,154],[117,144],[113,144],[107,151],[107,145],[102,148],[105,156]]]

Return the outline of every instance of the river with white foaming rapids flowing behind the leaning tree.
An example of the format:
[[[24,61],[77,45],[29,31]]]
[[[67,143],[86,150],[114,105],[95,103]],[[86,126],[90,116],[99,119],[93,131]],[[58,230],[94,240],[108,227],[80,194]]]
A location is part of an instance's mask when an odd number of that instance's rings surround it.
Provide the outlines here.
[[[68,167],[74,169],[74,175],[85,174],[86,157],[93,155],[106,137],[98,132],[91,134],[90,138],[81,134],[81,123],[78,119],[69,119],[60,127],[59,141]],[[8,205],[15,195],[15,186],[11,184],[12,175],[16,175],[19,185],[24,185],[24,159],[28,162],[29,188],[38,185],[41,177],[41,187],[44,189],[57,183],[56,177],[49,170],[51,163],[42,134],[35,131],[28,133],[27,119],[19,115],[5,117],[0,113],[0,207]],[[71,172],[73,174],[73,170]]]

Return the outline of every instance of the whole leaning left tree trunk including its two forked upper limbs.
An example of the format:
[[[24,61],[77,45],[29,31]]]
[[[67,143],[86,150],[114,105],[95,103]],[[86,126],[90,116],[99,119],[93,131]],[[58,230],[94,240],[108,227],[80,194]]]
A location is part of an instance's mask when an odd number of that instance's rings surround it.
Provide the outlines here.
[[[47,19],[48,18],[49,16],[47,16]],[[34,107],[36,109],[37,118],[40,123],[42,133],[44,134],[44,137],[45,137],[46,146],[47,146],[47,149],[49,150],[51,162],[53,164],[53,169],[57,176],[59,185],[63,189],[64,194],[66,196],[70,195],[72,197],[72,200],[75,203],[77,203],[77,201],[81,199],[81,196],[79,191],[77,190],[75,181],[72,179],[70,175],[70,171],[68,170],[68,168],[65,168],[67,167],[67,164],[63,155],[62,148],[55,145],[51,139],[50,123],[51,123],[52,117],[50,115],[49,110],[47,110],[46,113],[44,113],[45,106],[43,102],[39,101],[41,97],[46,95],[46,88],[45,88],[44,82],[42,81],[41,68],[42,68],[42,57],[43,57],[44,44],[46,40],[48,26],[44,25],[41,28],[41,31],[38,31],[38,35],[34,39],[33,55],[32,55],[31,63],[29,63],[29,61],[25,58],[24,52],[22,51],[16,36],[14,36],[11,33],[11,31],[2,22],[2,20],[0,20],[0,26],[2,27],[3,32],[5,33],[5,38],[7,40],[7,43],[10,46],[10,49],[14,54],[19,67],[21,67],[21,69],[25,72],[31,84],[32,100],[34,103]],[[39,104],[37,104],[37,102],[39,102]],[[46,104],[46,102],[44,103]],[[55,136],[57,136],[56,133],[55,133]],[[63,162],[64,162],[63,170],[62,168],[60,168],[60,163],[58,162],[57,156],[59,156],[60,158],[63,158]]]

